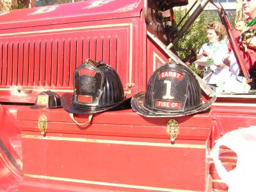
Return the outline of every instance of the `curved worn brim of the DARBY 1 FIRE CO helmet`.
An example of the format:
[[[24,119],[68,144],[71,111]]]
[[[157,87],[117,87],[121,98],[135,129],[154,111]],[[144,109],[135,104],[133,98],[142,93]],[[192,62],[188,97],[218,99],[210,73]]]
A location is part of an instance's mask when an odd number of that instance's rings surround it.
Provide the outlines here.
[[[192,109],[190,111],[185,112],[164,112],[164,111],[157,111],[147,108],[147,106],[144,105],[145,100],[145,92],[139,92],[136,93],[136,95],[133,95],[131,99],[131,106],[133,111],[136,113],[147,116],[147,117],[175,117],[175,116],[186,116],[186,115],[192,115],[195,113],[199,113],[201,111],[205,111],[206,109],[210,108],[212,103],[216,100],[216,96],[214,95],[208,102],[205,102],[204,104],[198,106],[195,109]]]

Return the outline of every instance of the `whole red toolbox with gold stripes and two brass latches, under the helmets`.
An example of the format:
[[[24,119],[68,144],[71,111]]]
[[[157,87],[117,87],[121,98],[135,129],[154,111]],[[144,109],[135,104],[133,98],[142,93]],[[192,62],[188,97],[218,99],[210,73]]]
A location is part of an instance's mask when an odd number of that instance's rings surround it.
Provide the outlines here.
[[[38,127],[43,115],[44,135]],[[76,116],[78,122],[87,118]],[[19,191],[33,191],[36,183],[45,191],[70,186],[70,191],[209,191],[209,113],[175,118],[179,134],[174,143],[168,138],[169,120],[127,109],[93,115],[81,127],[62,108],[20,108],[24,179]]]

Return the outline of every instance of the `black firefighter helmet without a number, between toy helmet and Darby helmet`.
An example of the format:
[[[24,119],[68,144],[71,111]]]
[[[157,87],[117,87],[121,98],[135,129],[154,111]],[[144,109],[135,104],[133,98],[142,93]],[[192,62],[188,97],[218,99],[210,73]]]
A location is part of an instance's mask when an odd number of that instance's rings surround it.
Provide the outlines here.
[[[61,106],[69,113],[93,114],[130,106],[125,99],[120,77],[103,62],[87,60],[74,71],[74,94],[61,97]]]

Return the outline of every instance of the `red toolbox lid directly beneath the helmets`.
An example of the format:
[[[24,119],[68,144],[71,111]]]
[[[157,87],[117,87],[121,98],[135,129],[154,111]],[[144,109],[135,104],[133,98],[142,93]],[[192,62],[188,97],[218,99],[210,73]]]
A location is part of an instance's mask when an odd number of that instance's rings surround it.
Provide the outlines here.
[[[19,108],[17,113],[17,120],[38,120],[38,116],[46,115],[49,122],[68,122],[73,123],[69,113],[64,109],[31,109],[29,106]],[[124,117],[125,118],[122,118]],[[75,115],[78,122],[84,122],[88,119],[88,115]],[[201,113],[197,115],[180,116],[175,118],[178,120],[181,127],[197,127],[202,129],[209,129],[211,126],[211,118],[209,113]],[[96,113],[93,115],[92,123],[95,124],[114,124],[114,125],[144,125],[144,126],[163,126],[166,127],[166,122],[170,118],[147,118],[137,113],[132,109],[122,111],[108,111],[108,113]],[[195,130],[196,131],[196,130]]]

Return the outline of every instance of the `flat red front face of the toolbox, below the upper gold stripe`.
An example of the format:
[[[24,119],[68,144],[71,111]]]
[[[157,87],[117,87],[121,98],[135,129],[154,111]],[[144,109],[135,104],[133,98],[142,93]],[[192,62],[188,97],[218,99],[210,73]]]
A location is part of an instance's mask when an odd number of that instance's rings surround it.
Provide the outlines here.
[[[35,132],[24,133],[34,134]],[[51,134],[51,136],[54,135]],[[67,135],[62,134],[62,136]],[[77,138],[76,135],[73,136]],[[68,134],[68,138],[71,141],[64,141],[61,138],[60,140],[24,138],[23,150],[36,151],[33,157],[29,153],[24,154],[25,175],[45,175],[150,188],[205,190],[205,148],[124,145],[122,142],[127,138],[121,137],[85,136],[86,139],[104,140],[106,143],[72,141],[71,134]],[[84,138],[84,136],[79,135],[79,138]],[[108,143],[109,139],[121,143],[111,144]],[[138,138],[128,140],[138,141]],[[168,140],[166,141],[168,143]],[[151,143],[165,143],[166,141],[155,140]],[[204,145],[204,142],[199,141],[197,144]],[[56,158],[52,161],[54,154],[58,156],[55,156]],[[196,166],[191,167],[191,164],[196,164]],[[84,171],[79,172],[82,169]],[[195,175],[196,179],[191,179]],[[104,184],[101,185],[104,186]]]

